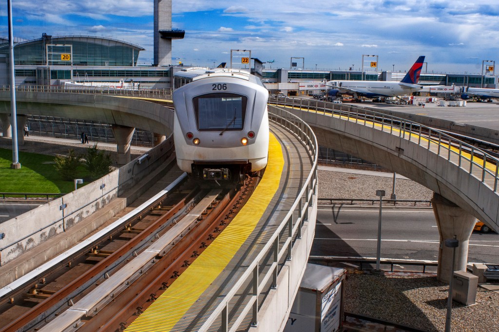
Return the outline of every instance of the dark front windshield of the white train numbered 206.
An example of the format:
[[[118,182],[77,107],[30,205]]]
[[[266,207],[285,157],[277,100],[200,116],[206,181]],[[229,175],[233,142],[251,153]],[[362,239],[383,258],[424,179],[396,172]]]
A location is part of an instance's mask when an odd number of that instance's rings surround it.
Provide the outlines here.
[[[200,131],[243,130],[248,98],[235,93],[210,93],[193,99]]]

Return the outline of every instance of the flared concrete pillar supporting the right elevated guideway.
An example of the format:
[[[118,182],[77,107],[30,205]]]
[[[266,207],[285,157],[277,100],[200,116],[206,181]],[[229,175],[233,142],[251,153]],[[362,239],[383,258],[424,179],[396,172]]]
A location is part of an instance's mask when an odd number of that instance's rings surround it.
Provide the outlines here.
[[[477,219],[438,193],[433,194],[432,206],[440,233],[437,279],[442,282],[449,282],[453,248],[446,247],[445,240],[454,238],[454,236],[459,240],[454,268],[456,271],[466,270],[468,242]]]

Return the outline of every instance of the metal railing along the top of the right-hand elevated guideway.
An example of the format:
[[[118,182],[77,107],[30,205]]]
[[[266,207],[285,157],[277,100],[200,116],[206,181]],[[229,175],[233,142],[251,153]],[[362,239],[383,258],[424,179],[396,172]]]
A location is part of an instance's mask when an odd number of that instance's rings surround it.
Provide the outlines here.
[[[481,180],[482,183],[489,186],[494,192],[498,191],[499,182],[499,159],[494,155],[484,151],[474,145],[463,142],[452,137],[441,130],[428,127],[424,124],[407,120],[397,116],[390,116],[384,113],[376,112],[371,109],[345,105],[334,104],[327,101],[314,99],[289,98],[289,97],[271,97],[269,103],[282,104],[289,107],[299,107],[302,111],[331,114],[348,121],[364,124],[365,126],[377,128],[380,130],[390,130],[391,134],[397,134],[403,139],[408,139],[427,149],[434,147],[436,153],[444,157],[447,161],[453,162],[470,174],[473,174]],[[424,134],[424,136],[423,136]],[[462,152],[470,151],[470,157],[466,157]],[[457,157],[457,161],[451,160],[451,156]],[[487,162],[494,165],[493,169],[487,168]],[[468,164],[469,163],[469,164]],[[473,173],[473,168],[478,167],[479,171]],[[491,179],[486,182],[486,177]]]

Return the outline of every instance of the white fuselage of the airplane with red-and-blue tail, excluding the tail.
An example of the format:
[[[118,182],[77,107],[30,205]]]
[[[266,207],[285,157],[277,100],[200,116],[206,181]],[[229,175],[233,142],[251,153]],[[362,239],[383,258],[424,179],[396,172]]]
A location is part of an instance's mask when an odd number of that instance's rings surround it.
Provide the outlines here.
[[[405,84],[401,82],[371,81],[371,80],[337,80],[329,81],[331,85],[338,86],[343,93],[366,97],[393,97],[421,90],[422,86],[418,84]],[[413,85],[413,86],[410,86]]]

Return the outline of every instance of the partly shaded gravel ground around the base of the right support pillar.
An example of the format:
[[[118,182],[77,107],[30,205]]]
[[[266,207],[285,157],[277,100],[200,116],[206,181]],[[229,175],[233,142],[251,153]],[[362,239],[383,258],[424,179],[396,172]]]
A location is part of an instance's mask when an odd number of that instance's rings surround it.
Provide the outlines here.
[[[449,285],[434,275],[348,273],[345,311],[425,331],[443,331]],[[479,287],[476,304],[453,302],[452,331],[499,331],[499,294]]]

